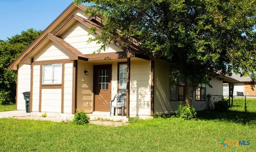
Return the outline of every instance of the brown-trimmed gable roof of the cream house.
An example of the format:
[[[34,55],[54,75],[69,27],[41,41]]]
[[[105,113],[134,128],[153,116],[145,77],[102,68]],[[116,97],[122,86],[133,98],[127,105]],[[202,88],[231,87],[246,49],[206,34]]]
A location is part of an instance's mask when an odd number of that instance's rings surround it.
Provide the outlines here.
[[[87,61],[88,58],[86,58],[81,52],[76,50],[73,46],[65,42],[63,39],[57,37],[63,34],[63,31],[68,29],[71,25],[73,25],[74,22],[78,21],[82,23],[87,28],[96,28],[95,33],[100,35],[101,34],[101,28],[103,25],[102,19],[98,17],[89,17],[88,19],[80,17],[79,15],[72,14],[72,12],[75,9],[80,9],[84,11],[86,9],[83,5],[75,5],[74,3],[71,3],[65,11],[63,11],[57,19],[55,19],[51,25],[49,25],[41,35],[38,36],[38,38],[35,39],[33,43],[31,43],[25,51],[23,51],[17,59],[15,59],[11,65],[8,67],[8,69],[11,70],[17,70],[17,65],[19,63],[25,63],[29,64],[30,61],[28,60],[31,54],[34,54],[34,52],[37,50],[37,48],[47,39],[50,39],[55,44],[62,47],[63,50],[66,50],[69,55],[71,55],[69,58],[71,60],[85,60]],[[95,22],[93,22],[95,21]],[[115,34],[114,34],[115,35]],[[121,47],[120,44],[129,42],[125,38],[116,38],[111,43]],[[138,45],[135,45],[134,43],[130,43],[126,47],[122,48],[124,52],[126,52],[126,55],[129,57],[138,57],[142,59],[149,60],[149,57],[145,55],[143,50],[140,49]],[[121,55],[123,57],[123,55]]]

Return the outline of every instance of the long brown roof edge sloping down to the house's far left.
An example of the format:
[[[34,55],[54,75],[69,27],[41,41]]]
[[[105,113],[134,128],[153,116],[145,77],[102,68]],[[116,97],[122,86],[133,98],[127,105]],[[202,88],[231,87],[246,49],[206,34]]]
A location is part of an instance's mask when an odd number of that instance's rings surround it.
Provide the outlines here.
[[[75,5],[75,3],[71,3],[67,9],[65,9],[43,32],[39,35],[34,42],[32,42],[25,51],[23,51],[8,67],[10,70],[16,70],[18,62],[31,50],[33,49],[39,42],[47,37],[47,34],[52,33],[55,29],[61,25],[63,21],[67,19],[69,15],[75,10],[80,9],[84,11],[86,8],[83,5]]]

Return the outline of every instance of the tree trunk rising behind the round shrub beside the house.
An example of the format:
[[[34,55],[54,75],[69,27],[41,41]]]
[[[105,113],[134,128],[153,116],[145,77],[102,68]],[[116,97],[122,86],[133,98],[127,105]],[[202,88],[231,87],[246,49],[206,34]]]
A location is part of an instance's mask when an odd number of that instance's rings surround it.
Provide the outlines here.
[[[194,91],[195,91],[194,80],[191,76],[187,76],[186,77],[186,98],[185,98],[186,105],[191,105]]]

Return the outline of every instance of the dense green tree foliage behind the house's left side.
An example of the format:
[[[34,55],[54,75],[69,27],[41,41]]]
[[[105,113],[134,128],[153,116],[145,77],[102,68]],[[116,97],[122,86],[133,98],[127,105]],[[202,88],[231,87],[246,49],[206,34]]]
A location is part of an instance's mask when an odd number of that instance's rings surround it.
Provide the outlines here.
[[[28,29],[19,35],[0,40],[0,104],[14,103],[16,94],[17,71],[8,70],[8,66],[25,50],[42,31]]]

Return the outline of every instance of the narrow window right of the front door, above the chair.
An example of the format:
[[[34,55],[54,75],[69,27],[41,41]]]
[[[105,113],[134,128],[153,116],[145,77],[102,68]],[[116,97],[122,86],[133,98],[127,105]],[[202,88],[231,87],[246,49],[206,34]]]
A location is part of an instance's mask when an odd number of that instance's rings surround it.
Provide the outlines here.
[[[126,69],[126,63],[119,64],[119,93],[126,93]]]

